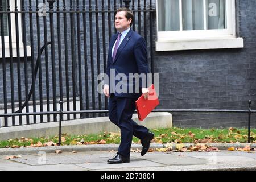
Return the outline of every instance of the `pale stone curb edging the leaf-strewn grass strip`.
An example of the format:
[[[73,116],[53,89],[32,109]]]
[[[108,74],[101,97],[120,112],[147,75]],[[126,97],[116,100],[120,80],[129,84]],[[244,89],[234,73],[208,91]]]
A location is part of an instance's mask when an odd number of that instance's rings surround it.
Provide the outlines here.
[[[188,148],[193,143],[182,143],[184,147]],[[200,143],[201,145],[207,145],[217,147],[219,150],[227,150],[229,147],[243,148],[249,145],[251,148],[256,148],[256,143]],[[32,148],[0,148],[0,155],[26,155],[26,154],[38,154],[39,152],[54,153],[55,150],[62,150],[63,152],[88,152],[88,151],[117,151],[119,144],[92,144],[86,146],[73,145],[73,146],[49,146],[49,147],[32,147]],[[142,149],[141,144],[131,144],[132,149]],[[164,148],[163,144],[151,143],[150,148]],[[172,150],[176,150],[176,143],[172,144]]]

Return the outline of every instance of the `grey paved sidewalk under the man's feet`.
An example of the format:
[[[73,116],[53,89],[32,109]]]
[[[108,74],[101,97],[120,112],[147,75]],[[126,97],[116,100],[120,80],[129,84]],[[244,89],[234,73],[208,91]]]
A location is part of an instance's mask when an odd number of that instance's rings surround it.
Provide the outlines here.
[[[256,170],[256,153],[221,150],[221,152],[131,152],[130,163],[108,164],[114,152],[86,151],[21,154],[21,158],[5,159],[0,155],[2,171],[172,171],[172,170]]]

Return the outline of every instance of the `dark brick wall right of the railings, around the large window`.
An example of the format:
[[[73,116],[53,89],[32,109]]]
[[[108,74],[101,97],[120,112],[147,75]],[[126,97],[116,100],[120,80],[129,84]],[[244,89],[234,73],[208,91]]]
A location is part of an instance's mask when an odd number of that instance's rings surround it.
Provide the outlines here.
[[[256,109],[256,3],[236,1],[236,9],[244,48],[155,52],[158,109],[247,109],[248,100]],[[247,114],[172,114],[178,127],[247,126]]]

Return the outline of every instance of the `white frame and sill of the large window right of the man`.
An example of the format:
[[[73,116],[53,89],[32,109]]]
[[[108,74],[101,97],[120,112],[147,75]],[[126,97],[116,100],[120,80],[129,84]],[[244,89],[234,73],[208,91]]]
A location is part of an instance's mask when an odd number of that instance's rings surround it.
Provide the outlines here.
[[[181,0],[179,1],[181,2]],[[156,11],[158,11],[158,1],[156,1]],[[156,13],[156,51],[175,51],[187,49],[212,48],[242,48],[243,39],[236,38],[235,0],[226,0],[226,16],[226,29],[158,31],[158,13]],[[206,27],[206,24],[204,24],[204,27]]]

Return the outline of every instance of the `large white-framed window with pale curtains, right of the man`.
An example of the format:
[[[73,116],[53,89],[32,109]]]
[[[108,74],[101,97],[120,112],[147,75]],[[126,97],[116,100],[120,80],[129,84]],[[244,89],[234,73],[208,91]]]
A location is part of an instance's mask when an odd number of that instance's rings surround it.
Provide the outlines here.
[[[158,0],[156,51],[240,48],[234,0]]]

